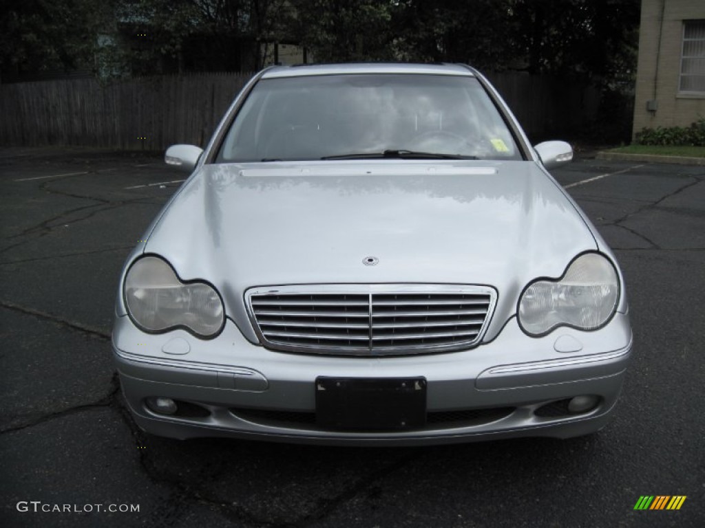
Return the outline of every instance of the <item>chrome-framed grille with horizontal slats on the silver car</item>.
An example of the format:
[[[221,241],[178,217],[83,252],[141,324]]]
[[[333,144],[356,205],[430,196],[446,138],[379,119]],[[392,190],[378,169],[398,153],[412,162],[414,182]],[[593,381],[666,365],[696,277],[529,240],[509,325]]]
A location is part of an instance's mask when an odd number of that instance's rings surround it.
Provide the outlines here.
[[[268,348],[383,356],[477,344],[495,299],[479,286],[331,284],[251,289],[247,308]]]

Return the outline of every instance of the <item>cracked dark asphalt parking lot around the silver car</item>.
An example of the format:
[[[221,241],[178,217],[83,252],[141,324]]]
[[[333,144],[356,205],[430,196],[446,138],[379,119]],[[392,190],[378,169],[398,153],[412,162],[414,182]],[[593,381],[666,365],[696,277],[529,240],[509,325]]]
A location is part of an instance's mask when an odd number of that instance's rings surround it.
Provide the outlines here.
[[[126,413],[110,330],[123,260],[183,173],[149,153],[0,149],[0,525],[705,526],[705,168],[584,158],[554,175],[615,249],[630,294],[635,356],[599,434],[172,441]],[[643,495],[687,499],[635,511]]]

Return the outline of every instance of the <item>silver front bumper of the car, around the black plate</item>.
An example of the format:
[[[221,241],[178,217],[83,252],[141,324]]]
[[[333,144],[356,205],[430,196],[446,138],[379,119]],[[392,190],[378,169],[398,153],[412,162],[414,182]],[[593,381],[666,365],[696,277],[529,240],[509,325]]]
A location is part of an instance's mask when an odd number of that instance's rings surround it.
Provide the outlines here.
[[[556,341],[565,342],[565,336],[573,350],[559,352],[565,346]],[[384,358],[269,351],[247,341],[229,320],[210,341],[182,330],[147,335],[127,317],[116,319],[113,332],[125,400],[147,432],[339,445],[595,432],[613,413],[631,347],[629,318],[620,313],[596,332],[559,328],[541,338],[527,337],[512,318],[494,341],[467,351]],[[315,422],[314,382],[320,376],[424,377],[427,425],[403,432],[323,429]],[[568,412],[565,403],[584,395],[597,396],[599,403]],[[154,397],[195,404],[186,407],[197,412],[154,413],[145,404]]]

